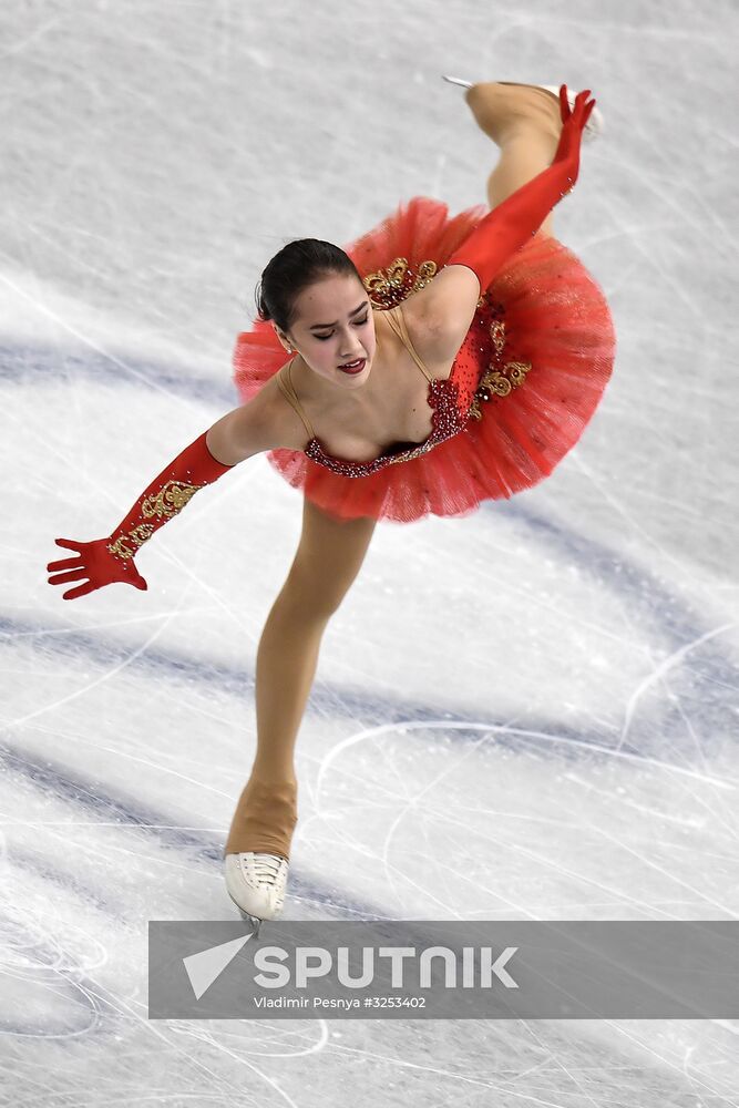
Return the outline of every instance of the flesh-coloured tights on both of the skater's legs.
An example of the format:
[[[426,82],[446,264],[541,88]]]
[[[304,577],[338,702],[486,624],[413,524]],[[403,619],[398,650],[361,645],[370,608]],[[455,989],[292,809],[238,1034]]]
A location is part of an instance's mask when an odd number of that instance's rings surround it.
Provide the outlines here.
[[[500,147],[487,178],[492,208],[551,165],[562,126],[558,100],[542,90],[492,82],[473,85],[464,96],[478,125]],[[553,234],[551,214],[540,234]],[[304,497],[298,550],[259,640],[257,751],[224,854],[290,855],[298,819],[295,743],[321,638],[359,573],[374,526],[367,517],[337,520]]]

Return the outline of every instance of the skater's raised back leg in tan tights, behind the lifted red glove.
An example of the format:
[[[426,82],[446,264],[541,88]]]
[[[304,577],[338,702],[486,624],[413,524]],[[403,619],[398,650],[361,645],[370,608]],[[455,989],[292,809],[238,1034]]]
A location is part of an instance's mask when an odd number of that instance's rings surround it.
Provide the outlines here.
[[[494,208],[552,164],[562,131],[560,102],[543,89],[493,82],[472,85],[465,100],[501,150],[487,178],[487,203]],[[553,235],[553,226],[550,213],[538,233]]]

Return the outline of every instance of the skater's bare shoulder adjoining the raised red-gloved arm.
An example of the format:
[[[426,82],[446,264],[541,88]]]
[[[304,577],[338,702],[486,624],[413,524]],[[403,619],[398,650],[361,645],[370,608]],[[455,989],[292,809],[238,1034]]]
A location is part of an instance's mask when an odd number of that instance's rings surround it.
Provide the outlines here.
[[[403,317],[419,355],[429,363],[454,357],[470,330],[480,281],[466,266],[447,266],[403,300]]]

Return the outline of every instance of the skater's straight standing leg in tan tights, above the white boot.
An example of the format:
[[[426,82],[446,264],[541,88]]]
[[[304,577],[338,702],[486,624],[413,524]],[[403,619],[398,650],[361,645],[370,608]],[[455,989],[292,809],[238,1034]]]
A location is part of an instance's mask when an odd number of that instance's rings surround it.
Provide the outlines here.
[[[295,742],[321,637],[355,581],[377,521],[337,520],[304,499],[302,533],[257,652],[257,752],[225,854],[289,858],[297,822]]]

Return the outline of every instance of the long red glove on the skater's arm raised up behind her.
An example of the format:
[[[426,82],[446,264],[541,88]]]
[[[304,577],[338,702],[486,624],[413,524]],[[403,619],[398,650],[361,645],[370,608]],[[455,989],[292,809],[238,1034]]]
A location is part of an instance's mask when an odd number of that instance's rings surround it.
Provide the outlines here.
[[[571,112],[567,85],[561,85],[563,125],[552,165],[489,212],[447,260],[448,266],[463,265],[472,269],[482,290],[526,238],[536,234],[554,205],[572,192],[579,173],[583,131],[596,104],[595,100],[586,103],[589,94],[589,89],[577,93]]]

